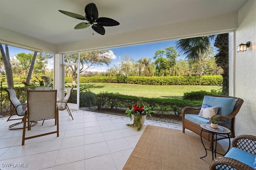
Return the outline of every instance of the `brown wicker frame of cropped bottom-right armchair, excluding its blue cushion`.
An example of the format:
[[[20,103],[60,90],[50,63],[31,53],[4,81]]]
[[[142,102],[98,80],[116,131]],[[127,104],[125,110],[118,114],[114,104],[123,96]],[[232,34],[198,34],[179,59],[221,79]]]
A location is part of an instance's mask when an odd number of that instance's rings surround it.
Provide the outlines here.
[[[238,149],[249,152],[250,154],[256,155],[256,136],[240,135],[238,137],[235,137],[232,141],[232,147],[236,147]],[[216,169],[255,170],[254,168],[248,166],[247,164],[244,164],[240,160],[225,156],[215,158],[212,161],[212,164],[210,165],[210,170]]]

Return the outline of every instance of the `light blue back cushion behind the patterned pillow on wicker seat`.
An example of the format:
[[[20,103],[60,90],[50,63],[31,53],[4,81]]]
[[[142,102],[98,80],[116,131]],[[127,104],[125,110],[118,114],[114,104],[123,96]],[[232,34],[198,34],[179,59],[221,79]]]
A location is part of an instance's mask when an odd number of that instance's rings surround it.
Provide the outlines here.
[[[204,96],[203,104],[206,104],[212,107],[213,106],[220,107],[217,115],[226,116],[226,115],[229,115],[234,110],[236,100],[234,98]]]

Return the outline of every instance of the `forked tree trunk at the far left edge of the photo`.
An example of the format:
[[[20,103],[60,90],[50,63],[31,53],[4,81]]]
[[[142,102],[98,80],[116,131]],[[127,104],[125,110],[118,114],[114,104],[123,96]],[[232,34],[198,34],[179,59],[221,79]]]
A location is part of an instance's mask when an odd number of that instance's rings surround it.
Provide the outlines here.
[[[12,77],[12,66],[11,66],[11,62],[10,62],[8,45],[5,45],[6,53],[4,53],[4,48],[3,48],[2,44],[0,44],[0,50],[1,50],[2,59],[4,62],[5,72],[6,72],[7,86],[8,86],[8,88],[13,88],[14,84],[13,84],[13,77]]]

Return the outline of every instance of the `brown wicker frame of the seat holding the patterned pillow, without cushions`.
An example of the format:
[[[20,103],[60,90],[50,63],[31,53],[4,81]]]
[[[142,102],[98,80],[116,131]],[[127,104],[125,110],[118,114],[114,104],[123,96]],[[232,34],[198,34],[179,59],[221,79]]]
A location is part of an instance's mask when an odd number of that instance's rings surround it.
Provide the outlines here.
[[[236,98],[236,97],[232,97],[232,96],[220,96],[220,95],[212,95],[213,97],[220,97],[220,98],[234,98],[236,100],[236,103],[234,105],[234,110],[232,111],[232,113],[230,113],[229,115],[226,116],[222,116],[222,115],[214,115],[210,118],[209,123],[211,122],[213,117],[219,117],[220,121],[218,121],[218,125],[224,126],[228,129],[230,129],[231,133],[230,133],[230,138],[234,138],[235,137],[235,131],[234,131],[234,121],[235,121],[235,116],[238,113],[238,111],[240,110],[242,104],[244,103],[244,100],[242,100],[241,98]],[[191,121],[188,121],[185,119],[185,115],[186,114],[194,114],[194,115],[198,115],[200,112],[202,106],[198,107],[198,108],[194,108],[194,107],[184,107],[182,109],[182,131],[183,133],[185,133],[185,129],[188,129],[190,131],[193,131],[194,133],[200,135],[201,133],[201,127],[200,125],[197,125]],[[202,133],[202,137],[204,139],[206,139],[207,141],[210,142],[210,148],[211,148],[211,144],[212,142],[210,141],[212,139],[212,134],[211,133],[207,133],[207,132],[203,132]],[[220,135],[216,135],[216,140],[220,140],[220,139],[227,139],[228,137],[223,137]]]

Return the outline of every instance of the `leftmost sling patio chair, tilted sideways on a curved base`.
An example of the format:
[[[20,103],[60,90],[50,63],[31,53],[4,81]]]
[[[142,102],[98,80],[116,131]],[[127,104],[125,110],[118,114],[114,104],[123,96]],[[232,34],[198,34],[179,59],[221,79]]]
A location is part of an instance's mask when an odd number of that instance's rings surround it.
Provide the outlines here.
[[[10,117],[7,119],[7,121],[10,120],[19,120],[21,119],[21,122],[18,123],[14,123],[12,125],[10,125],[8,127],[8,129],[22,129],[23,127],[17,127],[17,128],[13,128],[21,123],[23,123],[23,117],[25,115],[25,109],[23,109],[22,105],[26,105],[25,101],[24,102],[20,102],[16,96],[16,92],[13,88],[8,88],[6,89],[7,93],[8,93],[8,97],[10,100]],[[20,118],[12,118],[13,115],[17,115],[20,116]]]

